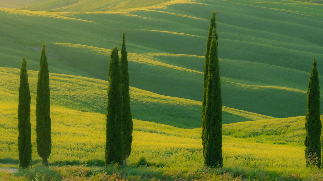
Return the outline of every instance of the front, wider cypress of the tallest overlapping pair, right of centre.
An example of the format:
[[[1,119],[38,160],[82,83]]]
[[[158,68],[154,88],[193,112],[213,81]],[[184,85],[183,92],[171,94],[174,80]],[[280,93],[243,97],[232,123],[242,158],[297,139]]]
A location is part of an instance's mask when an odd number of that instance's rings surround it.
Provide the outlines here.
[[[204,163],[222,167],[222,98],[216,29],[210,45],[204,122]]]

